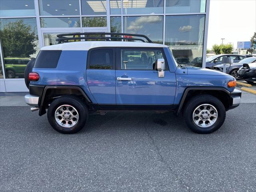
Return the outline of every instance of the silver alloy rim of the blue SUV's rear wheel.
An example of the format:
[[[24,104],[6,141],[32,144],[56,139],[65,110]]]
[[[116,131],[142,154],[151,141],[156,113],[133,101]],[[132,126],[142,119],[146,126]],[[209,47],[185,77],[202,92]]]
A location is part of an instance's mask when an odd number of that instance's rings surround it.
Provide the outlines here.
[[[62,127],[71,128],[77,124],[78,119],[78,112],[71,105],[59,106],[55,111],[55,120]]]

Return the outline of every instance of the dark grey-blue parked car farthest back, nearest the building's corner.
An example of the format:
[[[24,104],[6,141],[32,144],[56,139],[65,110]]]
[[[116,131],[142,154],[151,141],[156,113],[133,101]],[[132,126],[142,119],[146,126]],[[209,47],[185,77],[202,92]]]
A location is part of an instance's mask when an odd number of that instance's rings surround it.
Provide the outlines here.
[[[220,54],[220,55],[214,55],[211,57],[206,58],[206,68],[208,69],[214,69],[214,66],[222,64],[222,58],[224,57],[230,57],[233,59],[234,63],[239,62],[240,60],[243,60],[246,58],[245,55],[237,55],[237,54]]]

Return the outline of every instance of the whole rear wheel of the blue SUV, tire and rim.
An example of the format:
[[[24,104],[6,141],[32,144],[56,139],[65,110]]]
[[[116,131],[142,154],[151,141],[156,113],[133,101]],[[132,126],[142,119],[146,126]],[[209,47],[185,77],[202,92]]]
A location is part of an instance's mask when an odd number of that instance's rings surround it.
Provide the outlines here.
[[[50,104],[47,118],[56,131],[72,134],[85,126],[88,119],[88,108],[76,97],[63,96]]]

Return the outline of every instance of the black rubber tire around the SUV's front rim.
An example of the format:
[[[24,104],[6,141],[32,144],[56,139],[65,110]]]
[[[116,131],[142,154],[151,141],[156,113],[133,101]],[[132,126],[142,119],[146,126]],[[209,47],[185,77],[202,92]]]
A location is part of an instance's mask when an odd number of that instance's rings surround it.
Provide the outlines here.
[[[200,127],[193,120],[194,110],[196,110],[196,108],[202,104],[210,104],[214,106],[218,112],[218,118],[211,126]],[[209,134],[218,130],[222,126],[226,118],[226,109],[218,98],[211,95],[203,94],[192,97],[186,103],[183,108],[183,116],[188,128],[190,128],[193,132],[200,134]]]

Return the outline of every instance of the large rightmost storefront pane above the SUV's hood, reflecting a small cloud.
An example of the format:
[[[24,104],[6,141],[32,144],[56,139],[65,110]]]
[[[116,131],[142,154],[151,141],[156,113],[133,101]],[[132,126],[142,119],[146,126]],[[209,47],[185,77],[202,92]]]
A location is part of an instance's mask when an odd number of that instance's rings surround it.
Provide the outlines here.
[[[182,65],[202,67],[204,15],[166,16],[165,44]]]

